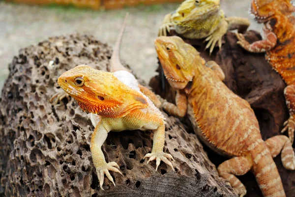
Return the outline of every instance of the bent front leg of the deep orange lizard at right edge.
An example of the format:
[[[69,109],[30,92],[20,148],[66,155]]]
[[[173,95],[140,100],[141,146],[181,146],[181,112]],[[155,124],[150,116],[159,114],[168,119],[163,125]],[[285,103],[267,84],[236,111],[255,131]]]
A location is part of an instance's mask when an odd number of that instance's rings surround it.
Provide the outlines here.
[[[241,33],[236,33],[236,37],[238,39],[236,43],[249,52],[264,53],[272,49],[277,42],[277,36],[271,32],[271,28],[267,24],[264,26],[264,33],[266,35],[265,40],[255,41],[252,44],[247,42]]]

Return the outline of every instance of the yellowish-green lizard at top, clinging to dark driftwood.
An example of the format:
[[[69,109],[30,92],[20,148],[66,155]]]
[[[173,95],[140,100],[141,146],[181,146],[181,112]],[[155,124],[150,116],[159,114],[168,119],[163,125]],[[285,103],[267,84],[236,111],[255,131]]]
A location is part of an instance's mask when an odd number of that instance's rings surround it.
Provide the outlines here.
[[[218,42],[221,48],[221,38],[229,30],[244,32],[250,22],[246,18],[224,16],[220,9],[220,0],[185,0],[176,11],[167,14],[159,29],[158,35],[165,35],[166,31],[174,27],[176,32],[188,39],[206,38],[206,48],[210,47],[210,54]]]

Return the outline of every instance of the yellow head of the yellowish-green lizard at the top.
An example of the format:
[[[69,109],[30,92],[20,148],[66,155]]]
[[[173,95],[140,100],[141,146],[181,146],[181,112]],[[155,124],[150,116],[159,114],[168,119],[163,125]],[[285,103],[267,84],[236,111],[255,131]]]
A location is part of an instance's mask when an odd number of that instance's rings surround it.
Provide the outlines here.
[[[173,21],[206,19],[220,10],[220,0],[185,0],[173,14]]]

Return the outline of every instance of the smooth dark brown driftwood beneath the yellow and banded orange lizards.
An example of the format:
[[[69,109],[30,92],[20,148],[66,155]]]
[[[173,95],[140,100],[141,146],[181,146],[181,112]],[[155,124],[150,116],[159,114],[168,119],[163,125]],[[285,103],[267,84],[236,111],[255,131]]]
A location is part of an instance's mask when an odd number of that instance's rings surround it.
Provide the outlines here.
[[[172,31],[172,35],[177,34]],[[245,33],[245,38],[252,43],[260,40],[261,35],[249,31]],[[264,140],[281,134],[283,123],[289,118],[283,94],[286,85],[279,74],[266,62],[263,53],[253,54],[242,49],[236,44],[237,39],[234,33],[227,33],[223,37],[221,50],[215,47],[211,56],[209,56],[208,50],[204,51],[206,43],[203,43],[203,40],[184,39],[184,41],[192,44],[206,61],[214,60],[221,66],[226,76],[224,83],[234,93],[251,104],[259,121]],[[157,94],[173,101],[175,92],[171,89],[167,80],[162,77],[160,67],[158,71],[160,74],[152,78],[149,85]],[[162,91],[161,81],[165,82],[165,91]],[[227,160],[227,158],[219,156],[206,146],[204,146],[204,149],[207,151],[209,159],[216,166]],[[293,197],[295,194],[295,171],[283,167],[280,155],[274,158],[274,161],[287,197]],[[240,176],[239,179],[246,186],[248,197],[262,197],[254,175],[249,172]]]

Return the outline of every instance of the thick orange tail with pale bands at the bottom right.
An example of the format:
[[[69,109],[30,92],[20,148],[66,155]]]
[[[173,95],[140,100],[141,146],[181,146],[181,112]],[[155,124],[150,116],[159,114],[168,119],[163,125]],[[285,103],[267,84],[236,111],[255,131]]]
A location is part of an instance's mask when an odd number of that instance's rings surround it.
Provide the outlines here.
[[[266,146],[253,153],[252,171],[264,197],[286,197],[278,169]]]

